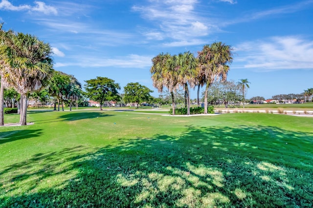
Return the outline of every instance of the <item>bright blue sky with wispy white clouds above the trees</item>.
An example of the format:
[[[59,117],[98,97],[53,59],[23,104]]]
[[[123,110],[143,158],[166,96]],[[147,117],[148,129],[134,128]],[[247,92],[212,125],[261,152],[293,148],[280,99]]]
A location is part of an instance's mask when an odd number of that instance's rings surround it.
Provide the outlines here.
[[[153,57],[221,41],[234,49],[227,79],[248,79],[247,98],[313,87],[313,0],[0,0],[0,22],[49,42],[55,70],[82,84],[139,82],[157,97]]]

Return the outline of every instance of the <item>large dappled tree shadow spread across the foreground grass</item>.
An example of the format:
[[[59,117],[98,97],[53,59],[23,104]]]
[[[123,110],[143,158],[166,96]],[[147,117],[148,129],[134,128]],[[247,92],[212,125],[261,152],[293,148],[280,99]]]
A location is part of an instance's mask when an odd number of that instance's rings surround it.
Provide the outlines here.
[[[6,167],[0,206],[310,207],[312,147],[312,135],[245,125],[78,146]]]

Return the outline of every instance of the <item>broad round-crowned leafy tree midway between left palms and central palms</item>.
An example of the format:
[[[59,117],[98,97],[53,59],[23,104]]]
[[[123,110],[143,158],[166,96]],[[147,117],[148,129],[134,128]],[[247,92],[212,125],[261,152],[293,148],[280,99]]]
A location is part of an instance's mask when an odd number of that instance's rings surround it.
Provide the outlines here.
[[[121,87],[114,80],[106,77],[97,77],[96,79],[91,79],[85,81],[86,95],[89,99],[100,103],[100,110],[102,110],[102,105],[106,101],[119,101],[120,96],[117,90]]]

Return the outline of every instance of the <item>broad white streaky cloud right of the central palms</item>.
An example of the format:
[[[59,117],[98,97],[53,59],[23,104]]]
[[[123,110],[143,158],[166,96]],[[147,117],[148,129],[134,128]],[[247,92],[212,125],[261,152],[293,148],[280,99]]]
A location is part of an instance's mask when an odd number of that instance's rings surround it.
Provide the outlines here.
[[[313,41],[301,37],[272,37],[235,47],[238,65],[260,71],[313,69]]]

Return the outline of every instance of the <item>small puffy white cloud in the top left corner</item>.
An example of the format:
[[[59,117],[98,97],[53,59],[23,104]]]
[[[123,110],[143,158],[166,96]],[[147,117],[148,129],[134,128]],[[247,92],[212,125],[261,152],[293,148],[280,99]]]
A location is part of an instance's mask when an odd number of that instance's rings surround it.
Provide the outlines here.
[[[8,0],[1,0],[0,2],[0,10],[10,10],[10,11],[28,11],[28,12],[40,12],[46,15],[53,14],[57,15],[58,11],[55,7],[46,5],[45,2],[42,1],[34,1],[35,5],[31,6],[28,4],[22,4],[15,6]]]

